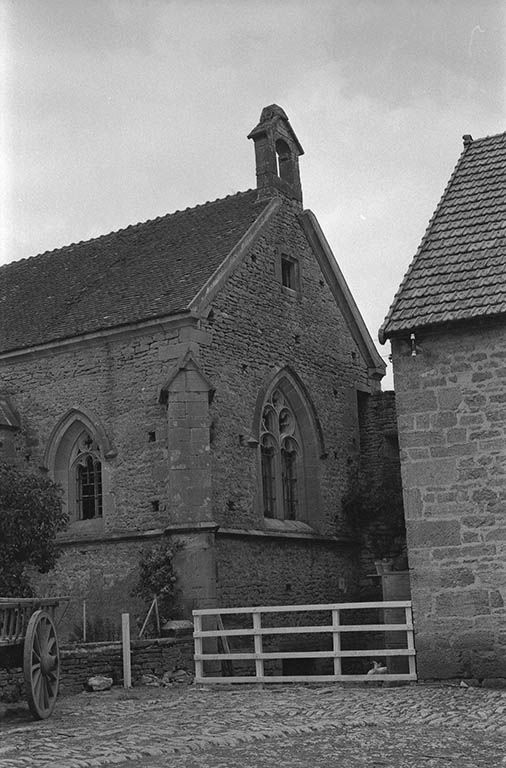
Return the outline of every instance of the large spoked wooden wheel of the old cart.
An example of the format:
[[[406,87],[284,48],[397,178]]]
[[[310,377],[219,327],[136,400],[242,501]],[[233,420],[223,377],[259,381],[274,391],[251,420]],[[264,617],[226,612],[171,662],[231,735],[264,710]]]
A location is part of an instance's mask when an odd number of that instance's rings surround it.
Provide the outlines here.
[[[44,720],[54,709],[60,682],[58,638],[45,611],[35,611],[28,622],[23,668],[30,712],[36,720]]]

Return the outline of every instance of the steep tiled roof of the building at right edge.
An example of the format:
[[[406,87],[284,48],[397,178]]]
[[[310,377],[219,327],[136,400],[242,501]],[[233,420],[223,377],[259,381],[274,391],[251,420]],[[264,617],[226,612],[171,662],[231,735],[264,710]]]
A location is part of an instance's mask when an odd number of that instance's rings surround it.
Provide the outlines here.
[[[506,133],[464,151],[379,339],[506,313]]]

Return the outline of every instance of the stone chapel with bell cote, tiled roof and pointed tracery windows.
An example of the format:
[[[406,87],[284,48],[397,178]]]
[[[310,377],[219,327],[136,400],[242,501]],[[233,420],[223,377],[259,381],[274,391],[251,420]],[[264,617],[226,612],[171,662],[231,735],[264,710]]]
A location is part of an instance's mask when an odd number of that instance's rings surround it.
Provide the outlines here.
[[[40,590],[132,607],[169,535],[180,602],[356,594],[343,497],[358,393],[384,364],[311,211],[282,109],[250,133],[257,188],[0,269],[4,458],[61,484],[71,524]]]

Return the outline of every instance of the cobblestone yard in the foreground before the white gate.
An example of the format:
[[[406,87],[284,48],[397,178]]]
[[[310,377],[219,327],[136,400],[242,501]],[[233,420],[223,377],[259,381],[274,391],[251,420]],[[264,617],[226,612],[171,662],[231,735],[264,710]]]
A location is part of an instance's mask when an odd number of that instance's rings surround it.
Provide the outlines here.
[[[0,723],[1,768],[504,768],[506,691],[136,688]]]

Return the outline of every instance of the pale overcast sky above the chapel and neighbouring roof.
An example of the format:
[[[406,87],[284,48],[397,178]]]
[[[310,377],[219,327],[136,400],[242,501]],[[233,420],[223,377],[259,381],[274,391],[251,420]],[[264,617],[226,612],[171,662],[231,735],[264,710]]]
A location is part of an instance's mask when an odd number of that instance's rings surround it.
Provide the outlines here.
[[[0,263],[254,187],[246,135],[277,103],[305,150],[304,205],[376,340],[462,135],[506,130],[505,11],[0,0]]]

